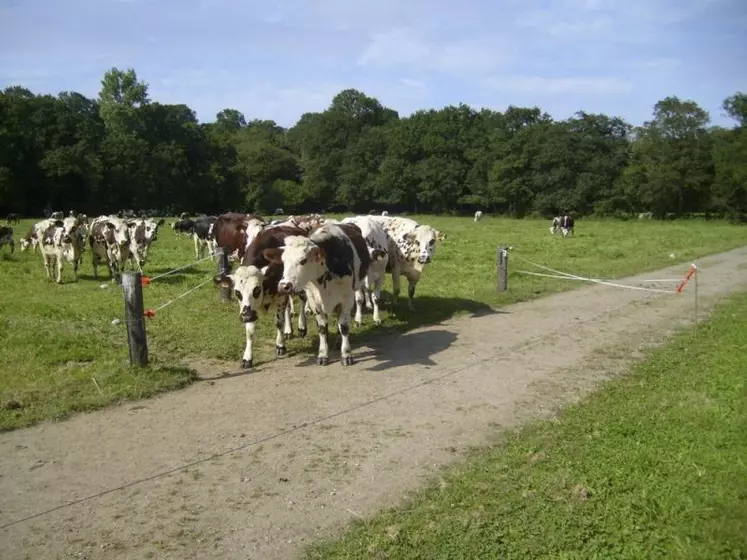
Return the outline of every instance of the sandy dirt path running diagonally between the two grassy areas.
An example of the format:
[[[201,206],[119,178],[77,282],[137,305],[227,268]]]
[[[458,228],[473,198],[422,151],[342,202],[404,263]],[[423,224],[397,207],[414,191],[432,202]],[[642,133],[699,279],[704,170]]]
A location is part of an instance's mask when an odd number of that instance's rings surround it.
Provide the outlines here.
[[[747,247],[699,266],[701,317],[747,287]],[[692,287],[587,286],[355,348],[350,369],[270,364],[2,434],[0,556],[291,558],[396,503],[496,427],[590,390],[602,365],[629,365],[692,319]]]

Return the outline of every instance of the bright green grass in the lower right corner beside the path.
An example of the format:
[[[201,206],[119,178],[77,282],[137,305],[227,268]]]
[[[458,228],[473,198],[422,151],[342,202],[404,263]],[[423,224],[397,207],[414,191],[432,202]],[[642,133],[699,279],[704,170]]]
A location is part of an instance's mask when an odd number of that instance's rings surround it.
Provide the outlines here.
[[[740,294],[697,344],[681,334],[307,558],[745,558],[745,332]]]

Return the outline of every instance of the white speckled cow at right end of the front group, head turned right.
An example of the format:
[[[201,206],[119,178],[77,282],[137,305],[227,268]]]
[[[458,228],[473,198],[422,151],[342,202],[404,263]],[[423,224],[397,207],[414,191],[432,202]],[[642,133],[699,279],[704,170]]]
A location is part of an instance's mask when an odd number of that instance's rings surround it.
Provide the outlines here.
[[[446,239],[446,234],[410,218],[374,216],[373,219],[381,224],[389,237],[387,272],[392,274],[394,301],[397,301],[400,292],[400,275],[404,275],[409,283],[408,307],[412,310],[415,287],[420,282],[423,267],[433,260],[436,244]]]

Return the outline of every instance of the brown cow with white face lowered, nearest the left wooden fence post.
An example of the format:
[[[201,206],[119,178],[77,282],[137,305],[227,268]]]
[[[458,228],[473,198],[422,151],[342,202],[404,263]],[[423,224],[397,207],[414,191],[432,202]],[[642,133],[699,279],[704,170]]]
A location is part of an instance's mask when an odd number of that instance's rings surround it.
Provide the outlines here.
[[[260,313],[275,310],[275,351],[277,357],[285,355],[285,340],[291,337],[291,321],[288,302],[292,295],[281,294],[278,282],[283,275],[282,263],[270,262],[265,257],[265,250],[282,247],[288,236],[305,236],[305,232],[294,226],[267,228],[261,231],[249,244],[241,264],[233,274],[218,275],[215,282],[219,286],[234,292],[239,302],[239,317],[246,330],[246,346],[241,359],[241,368],[250,369],[253,362],[253,339]],[[305,300],[305,295],[302,301]],[[301,314],[298,320],[298,334],[306,336],[306,316]]]

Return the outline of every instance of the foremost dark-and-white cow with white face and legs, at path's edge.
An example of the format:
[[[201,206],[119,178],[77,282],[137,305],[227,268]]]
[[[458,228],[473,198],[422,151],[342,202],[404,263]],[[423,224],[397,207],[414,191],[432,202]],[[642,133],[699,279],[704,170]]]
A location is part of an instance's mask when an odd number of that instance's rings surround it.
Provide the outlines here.
[[[309,307],[319,326],[317,363],[329,363],[328,316],[338,310],[341,362],[344,366],[352,365],[350,315],[355,304],[355,291],[360,289],[371,265],[360,228],[355,224],[325,223],[308,237],[286,237],[283,247],[266,249],[264,255],[270,262],[283,265],[278,292],[289,295],[294,290],[306,292]]]

